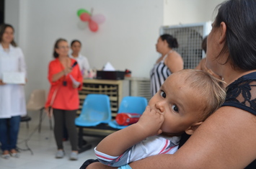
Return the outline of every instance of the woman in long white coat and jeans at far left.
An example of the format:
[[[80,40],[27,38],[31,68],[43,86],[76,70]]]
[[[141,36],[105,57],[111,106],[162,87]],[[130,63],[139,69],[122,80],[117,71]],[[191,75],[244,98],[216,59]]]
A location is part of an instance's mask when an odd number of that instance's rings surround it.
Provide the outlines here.
[[[0,26],[0,142],[5,159],[17,154],[17,135],[20,117],[26,111],[23,84],[4,83],[4,73],[16,73],[25,70],[25,59],[22,50],[14,42],[14,28],[9,24]]]

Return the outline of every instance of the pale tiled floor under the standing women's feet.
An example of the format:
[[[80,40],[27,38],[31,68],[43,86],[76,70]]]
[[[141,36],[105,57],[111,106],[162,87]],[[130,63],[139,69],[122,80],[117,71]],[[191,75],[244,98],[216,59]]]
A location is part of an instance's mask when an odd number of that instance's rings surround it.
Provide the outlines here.
[[[32,121],[29,122],[29,129],[27,129],[26,123],[22,122],[19,130],[19,139],[17,146],[20,149],[27,149],[27,145],[33,152],[33,155],[28,150],[21,150],[20,157],[11,157],[9,160],[5,160],[0,157],[0,168],[1,169],[79,169],[85,160],[89,158],[95,158],[93,148],[79,154],[79,160],[69,160],[69,154],[71,152],[70,142],[64,142],[64,150],[66,155],[63,159],[56,159],[56,142],[54,140],[53,131],[50,130],[48,117],[43,119],[43,125],[41,132],[38,133],[37,126],[39,121],[39,114],[37,112],[29,113],[32,117]],[[45,114],[44,114],[45,115]],[[95,147],[101,138],[99,137],[84,137],[87,142]],[[1,150],[0,150],[1,153]]]

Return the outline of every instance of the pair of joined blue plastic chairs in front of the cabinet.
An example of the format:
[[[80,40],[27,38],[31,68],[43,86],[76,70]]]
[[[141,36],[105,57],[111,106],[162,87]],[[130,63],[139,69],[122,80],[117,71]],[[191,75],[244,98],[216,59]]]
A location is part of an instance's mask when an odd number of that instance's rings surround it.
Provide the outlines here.
[[[142,114],[146,109],[148,101],[141,96],[125,96],[118,108],[120,113]],[[84,100],[81,114],[76,118],[78,127],[95,127],[99,124],[108,124],[115,129],[123,129],[115,120],[112,120],[110,109],[110,98],[105,94],[88,94]]]

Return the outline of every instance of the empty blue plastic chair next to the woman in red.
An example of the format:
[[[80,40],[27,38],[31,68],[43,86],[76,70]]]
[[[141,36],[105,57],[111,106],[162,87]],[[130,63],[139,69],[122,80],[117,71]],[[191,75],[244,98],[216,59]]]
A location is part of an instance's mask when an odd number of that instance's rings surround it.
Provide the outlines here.
[[[110,98],[105,94],[88,94],[81,114],[75,119],[76,126],[94,127],[111,121]]]

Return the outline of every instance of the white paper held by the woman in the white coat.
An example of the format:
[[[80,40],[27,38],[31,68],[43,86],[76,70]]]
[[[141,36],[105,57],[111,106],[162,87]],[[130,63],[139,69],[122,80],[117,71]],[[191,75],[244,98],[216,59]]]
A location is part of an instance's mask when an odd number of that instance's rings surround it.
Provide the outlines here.
[[[3,73],[3,82],[9,84],[25,84],[24,72],[6,72]]]

